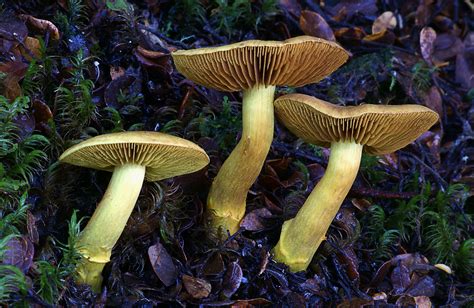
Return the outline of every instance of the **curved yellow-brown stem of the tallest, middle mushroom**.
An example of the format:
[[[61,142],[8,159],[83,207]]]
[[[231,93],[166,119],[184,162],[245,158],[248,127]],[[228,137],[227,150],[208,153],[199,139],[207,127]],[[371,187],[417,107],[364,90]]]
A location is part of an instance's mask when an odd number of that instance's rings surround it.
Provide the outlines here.
[[[275,87],[244,91],[242,137],[222,165],[207,198],[211,224],[226,237],[235,233],[245,214],[247,193],[257,179],[273,140]]]

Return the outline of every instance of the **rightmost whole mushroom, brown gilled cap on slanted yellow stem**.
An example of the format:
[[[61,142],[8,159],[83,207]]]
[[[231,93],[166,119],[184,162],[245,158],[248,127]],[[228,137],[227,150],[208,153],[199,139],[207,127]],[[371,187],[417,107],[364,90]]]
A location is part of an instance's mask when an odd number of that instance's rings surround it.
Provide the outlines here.
[[[419,105],[341,107],[303,94],[275,100],[278,119],[311,144],[331,147],[323,178],[297,215],[285,221],[273,249],[291,271],[305,270],[336,216],[359,170],[362,151],[382,155],[403,148],[438,121]]]

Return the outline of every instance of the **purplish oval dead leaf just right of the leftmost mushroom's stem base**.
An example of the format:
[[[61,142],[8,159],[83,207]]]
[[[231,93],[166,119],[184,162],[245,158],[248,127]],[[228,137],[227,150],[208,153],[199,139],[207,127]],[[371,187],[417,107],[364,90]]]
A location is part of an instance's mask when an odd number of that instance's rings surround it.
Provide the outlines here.
[[[150,259],[153,271],[156,276],[167,287],[175,284],[178,274],[173,259],[161,243],[156,243],[148,248],[148,258]]]

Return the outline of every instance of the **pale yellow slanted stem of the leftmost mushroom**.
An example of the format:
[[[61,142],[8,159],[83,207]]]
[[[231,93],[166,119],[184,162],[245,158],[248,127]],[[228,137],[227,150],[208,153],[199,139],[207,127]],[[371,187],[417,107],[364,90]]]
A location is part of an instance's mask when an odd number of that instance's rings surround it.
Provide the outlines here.
[[[135,207],[145,178],[145,167],[124,164],[114,169],[109,186],[79,238],[84,259],[76,269],[77,282],[100,292],[102,269]]]

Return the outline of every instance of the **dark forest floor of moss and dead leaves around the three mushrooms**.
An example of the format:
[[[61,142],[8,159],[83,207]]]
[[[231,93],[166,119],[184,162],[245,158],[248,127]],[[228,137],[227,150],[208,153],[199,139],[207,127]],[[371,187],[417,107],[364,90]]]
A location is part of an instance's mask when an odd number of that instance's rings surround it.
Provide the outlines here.
[[[5,0],[0,4],[0,303],[18,306],[474,304],[474,19],[470,1]],[[249,39],[337,41],[348,62],[279,87],[338,105],[419,104],[440,122],[358,177],[307,271],[272,259],[328,150],[276,123],[241,229],[216,243],[212,179],[237,144],[241,94],[194,84],[171,52]],[[110,173],[58,163],[119,131],[200,145],[202,171],[145,183],[94,294],[77,238]],[[435,266],[436,265],[436,266]]]

